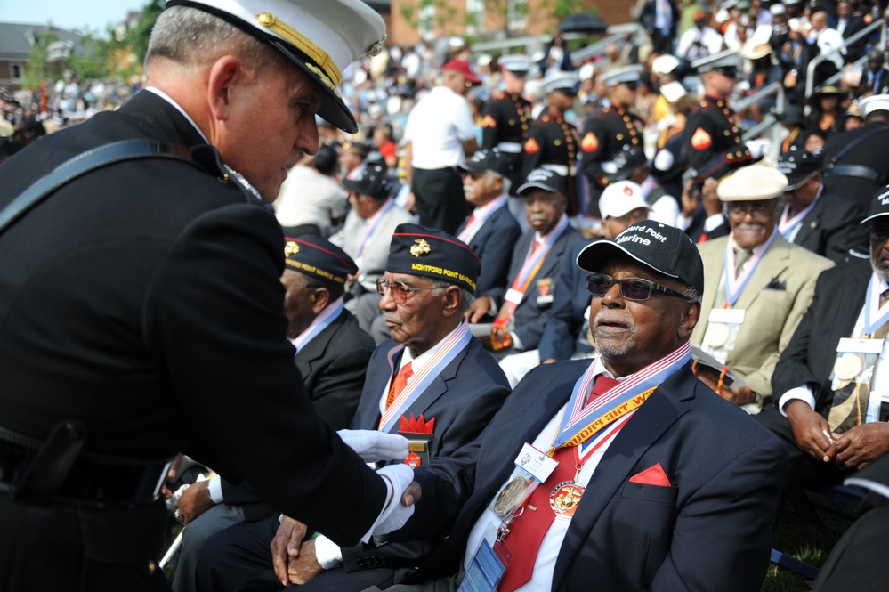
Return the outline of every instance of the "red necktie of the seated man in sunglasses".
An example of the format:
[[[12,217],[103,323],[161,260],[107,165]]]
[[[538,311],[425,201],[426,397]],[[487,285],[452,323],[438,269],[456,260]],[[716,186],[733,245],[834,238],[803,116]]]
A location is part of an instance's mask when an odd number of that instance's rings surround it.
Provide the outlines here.
[[[593,392],[589,401],[618,384],[617,380],[602,374],[595,377]],[[589,404],[587,402],[587,404]],[[566,411],[567,412],[567,411]],[[563,481],[571,481],[578,470],[575,464],[574,447],[560,448],[553,455],[559,465],[555,467],[553,474],[544,482],[537,485],[528,499],[524,513],[510,525],[509,536],[506,544],[513,551],[513,561],[506,568],[503,580],[497,586],[499,592],[513,592],[516,588],[524,586],[531,580],[534,572],[534,563],[537,561],[537,551],[543,542],[546,531],[555,519],[555,512],[549,505],[549,496],[556,485]]]

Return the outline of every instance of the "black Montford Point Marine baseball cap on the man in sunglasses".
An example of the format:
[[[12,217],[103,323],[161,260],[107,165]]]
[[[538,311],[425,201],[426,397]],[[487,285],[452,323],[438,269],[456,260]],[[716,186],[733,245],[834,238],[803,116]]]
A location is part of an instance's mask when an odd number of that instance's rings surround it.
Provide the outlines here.
[[[578,267],[599,272],[614,255],[629,255],[667,277],[676,278],[704,294],[704,264],[685,232],[654,220],[630,224],[614,239],[599,239],[578,254]]]

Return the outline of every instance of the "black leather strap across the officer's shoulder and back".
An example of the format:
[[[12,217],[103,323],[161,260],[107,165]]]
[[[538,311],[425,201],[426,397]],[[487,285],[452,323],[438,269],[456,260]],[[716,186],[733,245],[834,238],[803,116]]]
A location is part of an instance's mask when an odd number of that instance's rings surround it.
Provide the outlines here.
[[[0,233],[65,183],[101,166],[113,165],[122,160],[135,158],[175,158],[198,166],[191,159],[190,149],[178,144],[165,144],[155,140],[124,140],[105,144],[93,150],[86,150],[56,166],[53,171],[34,182],[19,197],[4,207],[0,211]]]

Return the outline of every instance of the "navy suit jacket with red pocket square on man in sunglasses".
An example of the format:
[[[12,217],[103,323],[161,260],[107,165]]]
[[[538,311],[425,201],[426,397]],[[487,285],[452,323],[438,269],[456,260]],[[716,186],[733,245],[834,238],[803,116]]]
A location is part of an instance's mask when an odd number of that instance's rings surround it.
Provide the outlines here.
[[[568,401],[589,363],[533,370],[472,447],[416,470],[423,497],[402,535],[446,531],[449,539],[419,570],[405,570],[407,581],[457,572],[469,532],[512,473],[522,444]],[[562,543],[552,589],[586,591],[594,582],[610,592],[758,590],[787,456],[777,438],[701,384],[690,366],[680,369],[605,452]],[[629,482],[658,463],[672,487]]]

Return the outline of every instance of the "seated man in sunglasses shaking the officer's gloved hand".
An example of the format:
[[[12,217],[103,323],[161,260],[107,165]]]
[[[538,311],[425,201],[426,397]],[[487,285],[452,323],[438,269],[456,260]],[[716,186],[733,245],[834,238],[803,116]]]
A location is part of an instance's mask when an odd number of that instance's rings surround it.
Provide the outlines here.
[[[416,514],[392,536],[448,539],[405,583],[755,592],[787,451],[691,372],[704,288],[691,239],[646,220],[578,265],[601,355],[535,369],[477,442],[416,469]],[[432,588],[389,588],[414,589]]]

